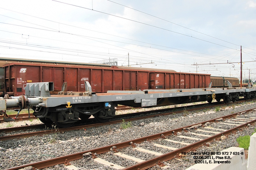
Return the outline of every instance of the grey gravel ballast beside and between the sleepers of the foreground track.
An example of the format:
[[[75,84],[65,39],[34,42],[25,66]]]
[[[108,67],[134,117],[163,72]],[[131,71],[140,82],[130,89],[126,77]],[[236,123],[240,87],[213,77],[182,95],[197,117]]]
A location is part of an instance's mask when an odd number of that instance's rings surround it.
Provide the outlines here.
[[[235,108],[231,107],[230,105],[230,107],[223,108],[222,111],[215,111],[215,108],[210,110],[201,110],[198,113],[188,113],[187,111],[184,111],[183,113],[176,114],[176,115],[156,116],[148,119],[133,121],[132,127],[128,129],[120,129],[120,124],[113,124],[113,125],[93,127],[88,129],[68,131],[65,133],[59,133],[58,130],[56,130],[56,133],[50,134],[50,135],[46,134],[43,136],[34,136],[34,137],[27,137],[23,139],[0,141],[0,155],[1,155],[0,169],[6,169],[9,167],[27,164],[27,163],[31,163],[39,160],[54,158],[54,157],[63,156],[66,154],[75,153],[75,152],[82,152],[82,151],[90,150],[96,147],[101,147],[109,144],[115,144],[115,143],[119,143],[127,140],[132,140],[135,138],[144,137],[144,136],[152,135],[155,133],[160,133],[163,131],[180,128],[185,125],[207,121],[210,119],[221,117],[223,115],[229,115],[232,112],[236,113],[236,112],[243,111],[245,109],[254,108],[254,107],[256,107],[256,103],[251,102],[248,104],[240,105],[240,107],[235,106]],[[240,117],[246,118],[246,116],[243,116],[243,115],[241,115]],[[144,123],[143,126],[140,125],[142,122]],[[217,124],[214,125],[214,124],[216,123],[211,123],[210,126],[213,128],[220,128],[219,125]],[[223,128],[224,127],[226,129],[230,129],[231,126],[223,124]],[[255,127],[254,126],[249,127],[248,129],[246,129],[246,131],[241,132],[240,136],[244,134],[251,134],[250,130],[253,130],[253,128]],[[193,129],[191,129],[190,131],[195,132]],[[171,137],[167,137],[167,139],[168,138],[171,139]],[[184,138],[179,138],[179,137],[176,137],[176,138],[180,142],[187,142],[187,143],[191,142],[191,140],[188,142],[188,140]],[[174,139],[172,137],[172,140],[176,140],[176,138]],[[204,138],[204,137],[198,137],[198,138]],[[224,144],[224,142],[222,141],[216,141],[217,142],[216,149],[218,148],[218,146],[220,146],[219,149],[221,150],[223,150],[223,148],[226,149],[227,147],[230,147],[230,146],[237,146],[236,136],[230,137],[230,139],[232,140],[229,140],[229,137],[228,137],[227,141],[230,142],[229,144]],[[160,139],[154,142],[158,144],[165,144],[165,143],[161,143]],[[153,147],[150,143],[147,143],[147,142],[144,142],[142,144],[137,144],[137,145],[143,146],[143,144],[148,145],[148,146],[145,146],[148,148],[148,150],[156,151],[159,149],[156,146]],[[179,147],[182,145],[169,143],[169,146]],[[125,149],[126,148],[121,149],[120,151],[124,150],[124,154],[127,154],[127,155],[131,154],[131,152],[125,151]],[[166,150],[162,149],[161,152],[165,153]],[[141,154],[145,154],[145,153],[141,153]],[[109,153],[109,155],[106,154],[106,156],[108,157],[111,156],[112,158],[113,155]],[[145,159],[149,159],[154,157],[154,155],[149,154],[144,157]],[[122,161],[124,166],[127,166],[124,159],[116,159],[116,156],[113,158],[115,158],[116,162]],[[138,156],[138,158],[142,159],[141,156]],[[98,165],[97,163],[95,163],[93,160],[90,159],[90,156],[88,156],[87,158],[84,157],[82,160],[80,159],[72,162],[74,162],[74,165],[79,167],[80,169],[95,169],[95,170],[96,169],[112,169],[109,167]],[[184,162],[186,163],[186,160],[184,159],[171,160],[168,162],[168,164],[170,164],[173,167],[173,169],[175,169],[174,167],[177,167],[177,169],[178,168],[186,169],[186,167],[188,167],[189,164],[186,164],[186,166],[183,167]],[[190,162],[190,164],[192,163],[193,162]],[[174,164],[176,164],[176,166]],[[58,169],[58,170],[64,169],[63,165],[57,165],[50,168]]]

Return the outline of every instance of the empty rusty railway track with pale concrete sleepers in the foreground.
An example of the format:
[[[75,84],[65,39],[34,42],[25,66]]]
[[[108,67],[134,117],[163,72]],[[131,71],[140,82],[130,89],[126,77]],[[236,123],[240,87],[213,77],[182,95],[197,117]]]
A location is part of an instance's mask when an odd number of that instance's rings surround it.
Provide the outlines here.
[[[109,166],[109,168],[115,167],[116,169],[124,170],[141,170],[148,169],[153,166],[162,166],[163,161],[173,158],[186,159],[184,158],[185,156],[181,154],[182,152],[194,151],[196,148],[209,144],[208,142],[211,142],[214,139],[218,140],[220,137],[227,137],[230,133],[234,133],[238,129],[254,123],[256,121],[255,110],[256,108],[252,108],[189,126],[156,133],[154,135],[140,137],[121,143],[111,144],[100,148],[42,160],[26,165],[16,166],[8,168],[7,170],[16,170],[27,166],[42,169],[63,163],[66,163],[67,166],[71,166],[68,165],[68,161],[74,165],[78,165],[80,162],[79,159],[87,159],[88,162],[92,161],[97,164]],[[231,128],[228,128],[226,125]],[[192,138],[191,135],[194,137]],[[184,138],[187,138],[190,140],[190,142],[181,142]],[[177,147],[177,144],[179,144],[180,147]],[[145,145],[147,145],[147,147],[145,147]],[[148,147],[149,145],[150,147]],[[152,148],[156,147],[161,148],[160,150],[162,153],[152,151]],[[129,156],[128,152],[133,152],[130,153],[133,156]],[[140,159],[138,158],[140,156],[140,152],[143,152],[144,154],[151,154],[153,156],[148,160]],[[92,153],[97,153],[97,155],[94,156]],[[112,159],[112,162],[109,162],[106,159],[104,160],[104,158],[106,158],[104,154],[106,153],[108,153],[108,156],[110,157],[108,160],[111,160],[111,157],[119,157],[120,159],[127,160],[127,165],[132,165],[124,167],[116,164],[118,161],[115,161],[115,159]]]

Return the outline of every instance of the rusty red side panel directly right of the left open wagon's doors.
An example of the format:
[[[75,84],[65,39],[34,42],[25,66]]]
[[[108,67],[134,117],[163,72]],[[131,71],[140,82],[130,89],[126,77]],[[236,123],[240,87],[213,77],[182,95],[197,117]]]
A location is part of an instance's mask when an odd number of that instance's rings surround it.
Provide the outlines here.
[[[66,68],[66,72],[64,74],[65,74],[65,82],[68,82],[67,91],[73,91],[73,92],[78,91],[77,72],[78,72],[77,68]]]

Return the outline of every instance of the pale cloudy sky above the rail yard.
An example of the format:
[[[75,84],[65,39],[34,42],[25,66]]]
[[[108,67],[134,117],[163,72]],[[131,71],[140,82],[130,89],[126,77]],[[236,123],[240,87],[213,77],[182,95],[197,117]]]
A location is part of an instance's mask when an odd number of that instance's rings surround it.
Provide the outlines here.
[[[1,0],[0,57],[256,79],[256,0]],[[195,65],[198,64],[198,65]]]

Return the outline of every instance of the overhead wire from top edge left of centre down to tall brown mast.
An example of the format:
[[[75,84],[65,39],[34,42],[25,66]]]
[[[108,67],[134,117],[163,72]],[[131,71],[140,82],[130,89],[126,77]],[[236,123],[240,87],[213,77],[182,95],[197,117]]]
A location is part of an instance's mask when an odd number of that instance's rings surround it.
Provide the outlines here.
[[[56,0],[52,0],[52,1],[56,1]],[[60,1],[56,1],[56,2],[59,2],[59,3],[62,3],[62,4],[68,4],[68,3],[64,3],[64,2],[60,2]],[[158,26],[153,26],[153,25],[146,24],[146,23],[143,23],[143,22],[140,22],[140,21],[135,21],[135,20],[128,19],[128,18],[119,17],[119,16],[116,16],[116,15],[113,15],[113,14],[109,14],[109,13],[106,13],[106,12],[92,10],[92,9],[89,9],[89,8],[85,8],[85,7],[77,6],[77,5],[73,5],[73,4],[68,4],[68,5],[76,6],[76,7],[79,7],[79,8],[84,8],[84,9],[91,10],[91,11],[100,12],[100,13],[111,15],[111,16],[118,17],[118,18],[127,19],[127,20],[130,20],[130,21],[133,21],[133,22],[137,22],[137,23],[140,23],[140,24],[147,25],[147,26],[152,26],[152,27],[159,28],[159,29],[162,29],[162,30],[170,31],[172,33],[177,33],[177,34],[180,34],[180,35],[184,35],[184,36],[188,36],[188,37],[191,37],[191,38],[195,38],[197,40],[201,40],[201,41],[209,42],[209,43],[212,43],[212,44],[215,44],[215,45],[219,45],[219,46],[222,46],[222,47],[226,47],[226,46],[223,46],[223,45],[220,45],[220,44],[217,44],[217,43],[213,43],[213,42],[206,41],[206,40],[203,40],[203,39],[200,39],[200,38],[192,37],[192,36],[189,36],[189,35],[186,35],[186,34],[183,34],[183,33],[178,33],[178,32],[175,32],[175,31],[171,31],[171,30],[168,30],[168,29],[165,29],[165,28],[161,28],[161,27],[158,27]],[[226,47],[226,48],[230,48],[230,47]],[[234,48],[230,48],[230,49],[234,49]],[[236,50],[236,49],[234,49],[234,50]]]

